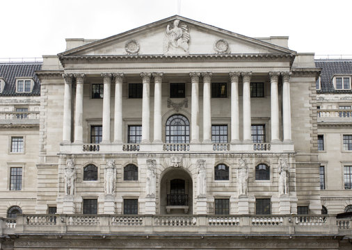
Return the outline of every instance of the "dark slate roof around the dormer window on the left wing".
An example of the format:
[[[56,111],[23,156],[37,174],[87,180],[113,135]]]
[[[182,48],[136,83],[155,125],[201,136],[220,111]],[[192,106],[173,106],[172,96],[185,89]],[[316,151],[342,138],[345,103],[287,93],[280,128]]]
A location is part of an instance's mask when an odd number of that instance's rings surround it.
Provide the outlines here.
[[[40,81],[35,75],[36,70],[42,68],[42,63],[0,63],[0,78],[6,82],[3,92],[0,97],[15,97],[15,96],[40,96]],[[34,87],[32,92],[17,93],[16,92],[16,77],[33,78]]]

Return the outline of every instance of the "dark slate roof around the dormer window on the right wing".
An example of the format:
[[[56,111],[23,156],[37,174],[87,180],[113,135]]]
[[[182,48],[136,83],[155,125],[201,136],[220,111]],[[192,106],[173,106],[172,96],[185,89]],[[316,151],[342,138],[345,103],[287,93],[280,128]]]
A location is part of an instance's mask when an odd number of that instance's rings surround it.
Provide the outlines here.
[[[321,68],[321,90],[317,93],[351,93],[352,90],[335,90],[333,85],[334,75],[351,75],[352,60],[315,60],[315,66]]]

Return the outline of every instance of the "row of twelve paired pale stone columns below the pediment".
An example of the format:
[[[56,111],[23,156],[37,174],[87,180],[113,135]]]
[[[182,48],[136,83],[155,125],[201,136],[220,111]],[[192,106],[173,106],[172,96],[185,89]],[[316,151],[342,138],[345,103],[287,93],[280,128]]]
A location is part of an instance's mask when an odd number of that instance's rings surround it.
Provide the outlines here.
[[[239,140],[239,78],[243,80],[243,142],[251,142],[250,78],[252,72],[230,72],[231,143]],[[102,143],[111,143],[111,84],[115,81],[113,142],[122,143],[123,73],[102,73],[104,83]],[[199,81],[203,80],[203,142],[211,142],[211,72],[191,72],[191,143],[199,143]],[[269,72],[271,79],[271,142],[280,141],[278,81],[282,76],[282,126],[284,142],[291,141],[290,72]],[[63,74],[65,79],[63,142],[71,142],[72,81],[76,79],[74,143],[83,143],[83,83],[85,74]],[[154,143],[162,142],[161,83],[163,73],[141,73],[143,83],[142,143],[150,143],[150,82],[154,79]]]

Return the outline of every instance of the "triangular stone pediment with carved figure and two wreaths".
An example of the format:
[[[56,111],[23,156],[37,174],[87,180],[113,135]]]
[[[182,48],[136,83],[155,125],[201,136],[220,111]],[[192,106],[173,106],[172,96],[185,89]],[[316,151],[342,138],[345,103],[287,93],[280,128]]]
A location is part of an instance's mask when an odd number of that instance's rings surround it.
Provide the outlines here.
[[[296,52],[175,15],[70,49],[59,53],[58,56],[266,53],[295,54]]]

